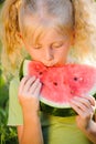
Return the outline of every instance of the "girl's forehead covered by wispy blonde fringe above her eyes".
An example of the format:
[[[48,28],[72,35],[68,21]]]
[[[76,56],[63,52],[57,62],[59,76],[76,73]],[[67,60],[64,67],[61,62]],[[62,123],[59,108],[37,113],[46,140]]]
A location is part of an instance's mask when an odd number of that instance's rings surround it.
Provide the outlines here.
[[[71,29],[72,28],[68,24],[62,25],[61,22],[52,17],[49,18],[47,16],[46,20],[41,20],[36,16],[32,17],[29,14],[24,18],[22,34],[24,39],[32,44],[44,37],[49,39],[64,38],[64,35],[68,35],[71,33]]]

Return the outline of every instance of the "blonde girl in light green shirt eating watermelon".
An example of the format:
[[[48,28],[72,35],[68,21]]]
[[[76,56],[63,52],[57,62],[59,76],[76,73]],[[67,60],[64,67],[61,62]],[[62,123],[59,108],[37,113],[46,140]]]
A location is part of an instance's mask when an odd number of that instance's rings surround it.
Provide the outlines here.
[[[4,72],[17,75],[15,70],[26,52],[46,66],[68,62],[96,64],[95,11],[93,0],[6,0],[2,11]],[[21,82],[15,76],[10,83],[8,124],[18,127],[19,143],[96,144],[94,97],[71,101],[78,113],[75,124],[75,116],[39,112],[41,88],[34,75],[24,76]]]

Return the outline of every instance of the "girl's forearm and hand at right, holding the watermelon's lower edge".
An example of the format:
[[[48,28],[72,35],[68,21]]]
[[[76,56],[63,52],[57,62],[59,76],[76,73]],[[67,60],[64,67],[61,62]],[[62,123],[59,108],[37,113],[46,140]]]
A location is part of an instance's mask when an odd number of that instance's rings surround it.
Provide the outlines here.
[[[96,120],[93,120],[96,107],[94,97],[74,97],[71,105],[78,114],[76,117],[77,126],[94,144],[96,144]]]

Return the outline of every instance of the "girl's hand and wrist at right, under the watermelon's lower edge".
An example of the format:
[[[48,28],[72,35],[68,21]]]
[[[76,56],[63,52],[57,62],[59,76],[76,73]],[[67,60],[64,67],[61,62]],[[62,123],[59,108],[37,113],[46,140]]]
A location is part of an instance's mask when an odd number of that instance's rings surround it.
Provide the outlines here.
[[[93,96],[74,97],[71,101],[71,106],[77,112],[76,117],[77,126],[81,130],[89,128],[92,119],[95,112],[96,102]]]

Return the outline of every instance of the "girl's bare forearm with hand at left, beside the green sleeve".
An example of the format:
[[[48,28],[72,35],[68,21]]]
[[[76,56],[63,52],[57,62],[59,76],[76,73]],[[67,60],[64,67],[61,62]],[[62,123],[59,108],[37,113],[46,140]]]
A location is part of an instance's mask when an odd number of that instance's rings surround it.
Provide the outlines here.
[[[19,101],[23,112],[23,125],[18,126],[20,144],[43,144],[39,117],[39,93],[41,83],[35,78],[25,76],[19,89]]]

